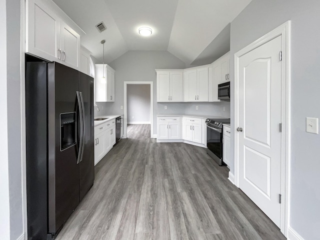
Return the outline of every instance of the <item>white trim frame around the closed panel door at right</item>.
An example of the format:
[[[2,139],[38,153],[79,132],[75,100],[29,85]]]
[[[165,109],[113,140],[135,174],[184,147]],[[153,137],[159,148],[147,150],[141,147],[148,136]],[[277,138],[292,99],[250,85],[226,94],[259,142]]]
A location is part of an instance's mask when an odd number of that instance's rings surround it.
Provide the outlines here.
[[[290,21],[283,23],[274,30],[245,46],[234,54],[234,127],[239,126],[239,57],[260,45],[282,36],[282,77],[281,77],[281,219],[280,230],[287,236],[289,221],[289,169],[290,169]],[[234,133],[234,184],[239,187],[239,137]]]

